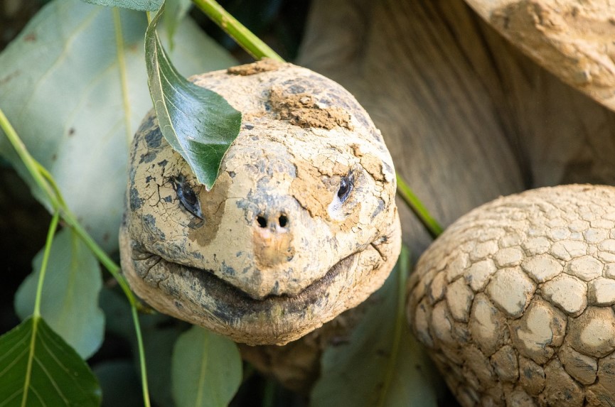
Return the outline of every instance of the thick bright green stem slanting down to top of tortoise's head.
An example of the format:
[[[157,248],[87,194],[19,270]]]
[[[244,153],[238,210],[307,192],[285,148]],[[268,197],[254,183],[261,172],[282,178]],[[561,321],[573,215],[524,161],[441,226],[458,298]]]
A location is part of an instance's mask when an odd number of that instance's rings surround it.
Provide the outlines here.
[[[231,16],[225,9],[214,0],[192,0],[196,6],[205,13],[214,23],[218,24],[237,44],[239,44],[253,58],[260,60],[267,57],[284,62],[282,57],[269,48],[260,38]]]

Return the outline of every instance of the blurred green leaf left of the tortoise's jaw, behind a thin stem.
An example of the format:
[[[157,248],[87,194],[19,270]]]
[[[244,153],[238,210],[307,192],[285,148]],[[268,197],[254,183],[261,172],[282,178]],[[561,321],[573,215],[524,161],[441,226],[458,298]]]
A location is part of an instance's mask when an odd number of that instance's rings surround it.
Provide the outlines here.
[[[15,295],[22,320],[33,313],[42,261],[43,250]],[[105,315],[98,308],[101,286],[100,266],[90,249],[70,229],[60,231],[51,244],[41,315],[84,359],[97,351],[105,335]]]

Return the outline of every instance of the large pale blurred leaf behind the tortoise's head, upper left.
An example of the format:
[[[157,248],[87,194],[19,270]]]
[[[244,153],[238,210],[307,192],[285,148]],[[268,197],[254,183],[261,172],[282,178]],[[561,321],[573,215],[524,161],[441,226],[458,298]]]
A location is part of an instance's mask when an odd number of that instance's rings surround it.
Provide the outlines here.
[[[116,22],[122,27],[122,48]],[[145,13],[55,0],[0,54],[1,109],[58,181],[70,209],[107,251],[117,249],[128,145],[151,109],[143,63],[146,26]],[[171,56],[186,74],[234,63],[189,19],[178,27],[175,42]],[[0,155],[44,202],[1,131]]]

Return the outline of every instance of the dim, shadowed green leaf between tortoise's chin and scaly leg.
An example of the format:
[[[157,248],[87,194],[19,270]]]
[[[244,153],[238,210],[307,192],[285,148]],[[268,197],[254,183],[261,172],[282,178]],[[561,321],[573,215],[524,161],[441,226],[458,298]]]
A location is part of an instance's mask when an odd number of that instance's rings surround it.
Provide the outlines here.
[[[408,258],[403,249],[350,340],[323,353],[311,406],[437,406],[437,373],[405,319]]]

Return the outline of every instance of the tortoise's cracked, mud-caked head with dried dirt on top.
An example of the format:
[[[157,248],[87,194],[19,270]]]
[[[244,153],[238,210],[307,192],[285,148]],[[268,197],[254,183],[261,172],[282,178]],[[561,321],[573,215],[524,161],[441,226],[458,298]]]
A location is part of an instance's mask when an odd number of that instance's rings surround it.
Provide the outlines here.
[[[146,116],[120,230],[134,291],[247,344],[296,340],[368,298],[401,244],[395,170],[368,114],[335,82],[271,60],[191,80],[242,112],[240,134],[208,192]]]

